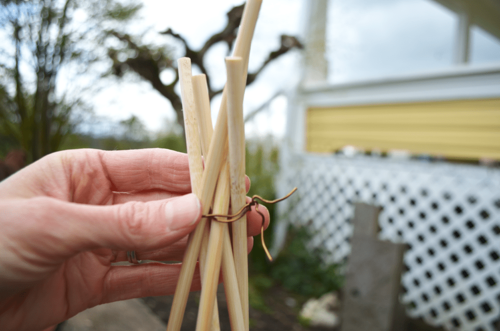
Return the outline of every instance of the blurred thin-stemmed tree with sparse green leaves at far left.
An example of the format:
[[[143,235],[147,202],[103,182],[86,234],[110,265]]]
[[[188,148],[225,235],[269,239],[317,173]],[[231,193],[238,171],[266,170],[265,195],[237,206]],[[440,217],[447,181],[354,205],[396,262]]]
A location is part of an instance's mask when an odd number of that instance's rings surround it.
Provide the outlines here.
[[[57,85],[61,68],[68,63],[88,68],[95,45],[85,36],[105,37],[95,22],[129,19],[140,6],[113,0],[0,1],[0,27],[10,34],[0,48],[0,134],[13,138],[34,161],[59,148],[78,123],[75,110],[85,108],[78,95]],[[73,23],[77,10],[86,10],[88,27]]]

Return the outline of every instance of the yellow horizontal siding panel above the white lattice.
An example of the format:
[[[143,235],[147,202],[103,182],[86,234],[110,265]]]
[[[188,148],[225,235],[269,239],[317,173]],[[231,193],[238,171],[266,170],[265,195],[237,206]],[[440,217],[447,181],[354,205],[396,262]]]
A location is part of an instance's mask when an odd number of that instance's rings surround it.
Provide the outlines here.
[[[307,109],[306,149],[500,159],[500,98]]]

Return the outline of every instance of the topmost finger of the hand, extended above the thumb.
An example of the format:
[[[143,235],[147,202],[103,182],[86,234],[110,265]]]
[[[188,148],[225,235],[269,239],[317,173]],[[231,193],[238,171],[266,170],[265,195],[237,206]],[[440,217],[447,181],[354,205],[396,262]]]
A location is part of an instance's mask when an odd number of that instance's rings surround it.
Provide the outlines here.
[[[187,154],[163,148],[59,151],[17,171],[0,187],[0,197],[50,192],[62,200],[91,204],[106,203],[110,191],[191,191]]]

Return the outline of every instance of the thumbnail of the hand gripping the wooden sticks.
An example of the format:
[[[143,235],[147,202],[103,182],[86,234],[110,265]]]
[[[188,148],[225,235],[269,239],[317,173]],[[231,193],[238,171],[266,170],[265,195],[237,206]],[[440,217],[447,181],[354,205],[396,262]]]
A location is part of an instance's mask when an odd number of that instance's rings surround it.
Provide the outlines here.
[[[201,204],[196,195],[189,193],[170,200],[165,212],[168,228],[178,230],[196,223],[201,213]]]

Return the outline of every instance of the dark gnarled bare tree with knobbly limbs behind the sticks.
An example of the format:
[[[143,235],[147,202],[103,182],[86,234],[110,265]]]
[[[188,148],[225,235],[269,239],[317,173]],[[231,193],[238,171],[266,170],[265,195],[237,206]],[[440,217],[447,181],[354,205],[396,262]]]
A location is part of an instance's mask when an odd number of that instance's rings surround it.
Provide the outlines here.
[[[214,89],[211,85],[210,75],[208,74],[208,70],[204,62],[205,55],[213,45],[219,42],[226,43],[228,49],[231,49],[232,44],[236,39],[236,32],[241,21],[243,8],[244,3],[230,9],[227,12],[226,26],[219,32],[210,36],[204,42],[203,46],[201,46],[201,48],[197,50],[192,49],[187,43],[186,39],[179,33],[174,32],[171,28],[160,32],[161,34],[170,35],[180,41],[184,47],[183,56],[189,57],[191,59],[191,63],[196,65],[202,73],[206,74],[208,94],[210,99],[218,93],[222,92],[222,89]],[[175,91],[175,85],[179,79],[178,72],[175,66],[176,63],[164,51],[164,47],[142,45],[138,41],[136,41],[133,36],[126,33],[120,33],[114,30],[110,30],[108,33],[126,44],[126,46],[122,49],[110,48],[108,50],[108,56],[113,61],[113,73],[117,76],[122,76],[123,73],[127,70],[132,70],[139,74],[143,79],[149,81],[154,89],[156,89],[159,93],[161,93],[161,95],[163,95],[170,101],[177,115],[177,123],[181,127],[183,127],[184,124],[182,116],[182,104],[180,95],[178,95]],[[294,36],[281,35],[280,41],[281,42],[279,48],[271,51],[257,70],[248,73],[246,79],[247,85],[251,84],[255,80],[257,75],[262,72],[264,67],[272,60],[278,58],[279,56],[285,54],[293,48],[302,48],[302,44]],[[126,56],[126,58],[123,59],[120,55],[127,54],[126,50],[133,50],[133,55]],[[165,68],[172,68],[175,72],[173,81],[168,84],[163,84],[160,79],[160,73]]]

